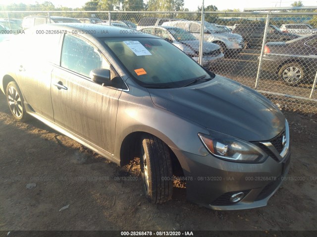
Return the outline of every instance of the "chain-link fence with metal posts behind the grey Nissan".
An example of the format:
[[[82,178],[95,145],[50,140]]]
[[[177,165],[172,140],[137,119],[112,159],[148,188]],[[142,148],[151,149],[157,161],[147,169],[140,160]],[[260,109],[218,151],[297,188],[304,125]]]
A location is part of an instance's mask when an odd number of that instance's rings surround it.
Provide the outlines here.
[[[317,7],[204,14],[2,11],[1,37],[58,22],[104,24],[121,27],[122,34],[140,30],[157,35],[212,72],[257,89],[281,109],[317,114]]]

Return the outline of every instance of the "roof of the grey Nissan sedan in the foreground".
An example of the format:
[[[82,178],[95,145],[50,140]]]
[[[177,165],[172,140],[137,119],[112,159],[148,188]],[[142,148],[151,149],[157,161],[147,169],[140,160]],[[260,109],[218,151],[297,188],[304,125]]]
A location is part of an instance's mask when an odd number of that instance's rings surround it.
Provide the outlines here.
[[[100,24],[89,24],[89,23],[54,23],[54,24],[43,24],[34,27],[33,29],[39,28],[55,28],[58,30],[67,30],[69,32],[72,31],[85,31],[89,32],[91,36],[95,38],[110,38],[110,37],[120,37],[120,38],[127,38],[127,37],[146,37],[146,38],[157,38],[161,39],[157,36],[153,36],[150,34],[140,34],[138,31],[128,31],[125,34],[122,34],[122,28],[114,27],[114,26],[107,26],[107,25],[100,25]]]

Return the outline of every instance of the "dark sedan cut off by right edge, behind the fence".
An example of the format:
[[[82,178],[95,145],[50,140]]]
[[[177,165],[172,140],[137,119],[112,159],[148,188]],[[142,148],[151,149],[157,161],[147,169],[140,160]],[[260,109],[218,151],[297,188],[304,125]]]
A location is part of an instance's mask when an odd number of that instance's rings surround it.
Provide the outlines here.
[[[266,43],[262,70],[278,74],[287,85],[311,81],[317,71],[317,34]]]

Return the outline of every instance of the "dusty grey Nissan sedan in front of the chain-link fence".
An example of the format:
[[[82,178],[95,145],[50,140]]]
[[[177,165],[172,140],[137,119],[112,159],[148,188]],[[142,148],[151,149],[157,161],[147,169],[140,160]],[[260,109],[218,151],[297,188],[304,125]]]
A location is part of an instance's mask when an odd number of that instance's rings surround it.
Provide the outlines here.
[[[265,206],[288,172],[281,111],[166,40],[84,23],[41,25],[16,40],[0,57],[13,117],[38,118],[119,165],[140,158],[153,203],[172,198],[178,173],[187,198],[208,208]]]

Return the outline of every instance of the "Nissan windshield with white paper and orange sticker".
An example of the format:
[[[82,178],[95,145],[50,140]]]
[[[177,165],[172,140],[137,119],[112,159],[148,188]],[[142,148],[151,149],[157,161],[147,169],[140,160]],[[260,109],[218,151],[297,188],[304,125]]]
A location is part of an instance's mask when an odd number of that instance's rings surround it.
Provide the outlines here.
[[[173,44],[153,38],[102,39],[136,81],[144,86],[181,87],[210,74]]]

